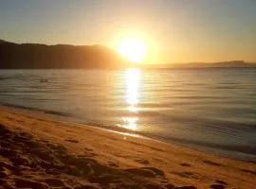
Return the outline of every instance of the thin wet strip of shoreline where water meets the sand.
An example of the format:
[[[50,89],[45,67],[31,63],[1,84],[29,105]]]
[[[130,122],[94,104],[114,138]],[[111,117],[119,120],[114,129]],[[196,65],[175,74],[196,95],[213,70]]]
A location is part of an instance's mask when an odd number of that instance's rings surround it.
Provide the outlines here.
[[[46,115],[48,117],[52,117],[53,119],[59,119],[59,120],[67,121],[70,123],[86,125],[86,126],[94,127],[97,129],[105,129],[110,132],[117,132],[117,133],[121,133],[124,135],[126,134],[126,135],[132,135],[132,136],[136,136],[136,137],[145,137],[150,140],[164,142],[164,143],[168,143],[171,145],[174,144],[176,146],[192,148],[194,150],[201,151],[204,153],[209,153],[211,155],[217,155],[217,156],[221,156],[224,158],[229,158],[229,159],[238,160],[238,161],[244,161],[244,162],[248,162],[248,163],[256,163],[256,154],[251,153],[251,150],[253,150],[253,149],[242,148],[243,150],[241,151],[241,149],[233,150],[233,149],[235,149],[236,146],[218,146],[218,145],[213,145],[213,144],[206,145],[206,144],[197,143],[197,142],[192,143],[190,141],[186,141],[186,140],[178,139],[178,138],[161,138],[161,137],[157,137],[154,134],[145,133],[143,131],[125,129],[125,128],[121,128],[118,126],[112,127],[110,125],[84,122],[82,119],[75,118],[72,115],[70,115],[68,113],[64,113],[64,112],[54,112],[54,111],[48,111],[48,110],[39,109],[39,108],[30,108],[30,107],[26,107],[26,106],[14,105],[14,104],[8,104],[8,103],[0,103],[0,109],[1,109],[1,107],[6,107],[6,108],[10,108],[10,109],[13,108],[14,110],[18,110],[18,111],[39,113],[42,115]],[[248,153],[245,151],[248,151]]]

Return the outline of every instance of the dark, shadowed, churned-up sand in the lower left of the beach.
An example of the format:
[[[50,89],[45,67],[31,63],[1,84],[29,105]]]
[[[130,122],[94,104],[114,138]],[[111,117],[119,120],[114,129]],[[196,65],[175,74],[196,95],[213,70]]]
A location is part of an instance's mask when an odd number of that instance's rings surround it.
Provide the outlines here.
[[[112,186],[137,189],[195,188],[175,187],[168,183],[164,172],[155,167],[126,169],[112,162],[102,164],[87,157],[91,153],[89,148],[87,151],[84,148],[86,153],[83,155],[76,156],[68,153],[68,148],[64,146],[35,139],[25,132],[11,132],[1,124],[0,133],[0,188],[67,189],[71,188],[69,183],[75,189],[114,188]],[[79,143],[73,139],[65,141]],[[9,174],[13,177],[9,177]],[[86,185],[80,180],[84,180]]]

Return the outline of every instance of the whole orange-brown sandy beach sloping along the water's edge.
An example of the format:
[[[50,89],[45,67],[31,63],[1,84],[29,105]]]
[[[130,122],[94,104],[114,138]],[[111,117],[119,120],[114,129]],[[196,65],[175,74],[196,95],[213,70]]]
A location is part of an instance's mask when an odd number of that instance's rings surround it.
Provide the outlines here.
[[[256,164],[0,107],[0,188],[256,188]]]

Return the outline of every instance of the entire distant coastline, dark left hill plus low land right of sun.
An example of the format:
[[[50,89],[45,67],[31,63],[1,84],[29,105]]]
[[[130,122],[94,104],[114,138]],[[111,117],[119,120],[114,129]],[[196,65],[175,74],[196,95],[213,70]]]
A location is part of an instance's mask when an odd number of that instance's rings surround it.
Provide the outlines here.
[[[188,62],[135,64],[116,51],[96,45],[46,45],[10,43],[0,40],[0,69],[85,69],[85,68],[256,68],[256,62],[230,60],[223,62]]]

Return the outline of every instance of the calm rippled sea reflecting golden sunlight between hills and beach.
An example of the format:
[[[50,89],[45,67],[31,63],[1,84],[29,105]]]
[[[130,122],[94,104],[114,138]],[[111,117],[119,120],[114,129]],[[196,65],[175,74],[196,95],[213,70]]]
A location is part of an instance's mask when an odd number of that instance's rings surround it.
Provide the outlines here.
[[[0,102],[256,160],[256,69],[1,70]]]

